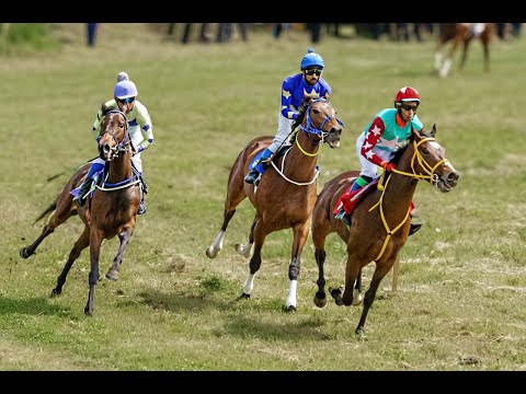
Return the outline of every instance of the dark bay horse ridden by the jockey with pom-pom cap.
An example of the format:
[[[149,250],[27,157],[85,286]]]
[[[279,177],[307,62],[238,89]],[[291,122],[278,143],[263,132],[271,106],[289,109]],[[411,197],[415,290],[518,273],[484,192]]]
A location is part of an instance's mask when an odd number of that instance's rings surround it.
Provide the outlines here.
[[[80,256],[80,253],[90,246],[89,294],[84,308],[87,315],[93,315],[93,297],[95,285],[99,281],[99,256],[102,241],[118,235],[121,246],[113,260],[113,265],[106,273],[106,278],[118,280],[119,266],[123,254],[134,233],[137,209],[140,202],[140,179],[134,174],[132,167],[132,147],[128,135],[126,115],[118,109],[102,106],[103,119],[99,135],[99,157],[105,161],[102,185],[96,185],[92,198],[79,207],[73,202],[71,190],[77,188],[85,177],[90,162],[80,166],[68,181],[62,192],[58,195],[35,223],[53,211],[41,235],[30,246],[22,247],[20,255],[28,258],[33,255],[45,237],[52,234],[57,227],[66,222],[70,217],[79,215],[84,222],[84,230],[71,248],[68,260],[57,286],[52,291],[52,297],[62,292],[71,266]]]

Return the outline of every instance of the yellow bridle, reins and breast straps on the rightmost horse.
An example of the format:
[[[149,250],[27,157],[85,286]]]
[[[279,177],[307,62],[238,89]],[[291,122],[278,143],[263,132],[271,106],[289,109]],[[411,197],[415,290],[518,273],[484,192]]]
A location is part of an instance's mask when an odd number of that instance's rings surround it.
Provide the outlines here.
[[[413,171],[412,173],[407,173],[407,172],[403,172],[403,171],[400,171],[400,170],[397,170],[397,169],[393,169],[392,172],[393,173],[397,173],[397,174],[400,174],[400,175],[405,175],[405,176],[410,176],[412,178],[415,178],[415,179],[419,179],[419,181],[422,181],[422,179],[428,179],[428,182],[433,185],[433,186],[436,186],[437,183],[438,183],[438,175],[435,174],[435,170],[442,164],[442,163],[445,163],[445,162],[448,162],[447,159],[443,159],[441,160],[439,162],[437,162],[435,164],[435,166],[431,166],[425,160],[424,158],[422,158],[422,154],[420,153],[419,151],[419,146],[425,141],[434,141],[435,139],[434,138],[431,138],[431,137],[426,137],[426,138],[423,138],[422,140],[420,140],[420,142],[416,143],[416,141],[413,141],[413,144],[414,144],[414,153],[413,153],[413,158],[411,159],[411,170]],[[424,171],[427,173],[427,175],[423,175],[423,174],[416,174],[416,172],[414,171],[414,161],[419,162],[419,164],[424,169]],[[386,236],[386,240],[384,241],[384,245],[381,246],[381,251],[380,253],[378,254],[378,256],[375,258],[375,262],[378,260],[382,255],[384,255],[384,252],[386,251],[386,247],[387,247],[387,244],[389,243],[389,240],[391,239],[391,236],[398,231],[400,230],[400,228],[403,225],[403,223],[405,223],[405,221],[408,220],[409,218],[409,209],[408,209],[408,213],[405,215],[405,218],[403,218],[403,220],[400,222],[400,224],[398,224],[395,229],[390,230],[389,229],[389,224],[387,224],[387,220],[386,220],[386,216],[384,213],[384,195],[386,194],[386,188],[387,188],[387,185],[389,184],[389,181],[391,179],[391,176],[389,175],[387,177],[387,181],[386,181],[386,185],[384,186],[382,183],[384,183],[384,177],[386,176],[386,172],[384,171],[384,173],[381,174],[381,177],[380,179],[378,181],[378,185],[377,185],[377,188],[378,190],[381,192],[381,195],[380,195],[380,199],[378,200],[378,202],[376,202],[373,207],[370,207],[369,209],[369,212],[375,209],[376,207],[380,207],[380,218],[381,218],[381,222],[384,223],[384,228],[386,229],[387,231],[387,236]]]

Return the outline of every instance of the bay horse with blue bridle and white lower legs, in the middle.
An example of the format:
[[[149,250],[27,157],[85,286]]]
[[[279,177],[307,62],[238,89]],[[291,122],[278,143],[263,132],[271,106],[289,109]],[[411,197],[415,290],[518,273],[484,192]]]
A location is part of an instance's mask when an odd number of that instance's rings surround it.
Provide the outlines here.
[[[317,155],[320,146],[340,146],[340,135],[344,124],[336,118],[334,107],[324,99],[310,102],[302,116],[301,125],[289,150],[275,155],[272,166],[263,174],[258,186],[247,184],[244,176],[249,163],[263,149],[272,143],[273,137],[253,139],[241,150],[230,170],[224,219],[215,241],[206,250],[209,258],[215,258],[222,248],[228,223],[236,213],[236,207],[247,197],[255,208],[249,243],[236,244],[236,251],[250,258],[250,273],[244,281],[239,299],[249,299],[254,287],[254,276],[261,267],[261,251],[266,235],[272,232],[293,229],[294,240],[288,266],[289,292],[285,304],[286,312],[296,311],[296,288],[301,266],[301,251],[309,235],[309,220],[316,202],[319,169]],[[281,150],[281,152],[283,152]],[[253,247],[253,254],[252,254]]]

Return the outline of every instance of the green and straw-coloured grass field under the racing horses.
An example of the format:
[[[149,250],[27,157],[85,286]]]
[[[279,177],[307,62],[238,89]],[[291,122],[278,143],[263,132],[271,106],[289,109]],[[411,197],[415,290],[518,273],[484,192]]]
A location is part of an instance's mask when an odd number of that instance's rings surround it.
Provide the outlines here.
[[[357,170],[355,140],[398,89],[415,86],[424,127],[460,172],[441,194],[418,186],[424,222],[401,253],[398,291],[380,285],[363,336],[362,306],[312,302],[317,267],[309,239],[298,309],[286,314],[291,232],[271,234],[252,299],[236,301],[249,260],[253,209],[243,201],[216,259],[205,255],[222,221],[228,173],[253,137],[274,135],[282,80],[311,46],[304,32],[275,40],[255,26],[249,42],[183,46],[163,26],[102,24],[94,48],[83,24],[59,24],[60,49],[0,62],[0,370],[107,371],[503,371],[526,369],[526,39],[494,40],[491,72],[473,43],[466,69],[432,73],[434,38],[393,43],[323,35],[315,49],[332,104],[345,123],[341,147],[321,149],[318,188]],[[197,30],[197,28],[196,28]],[[56,278],[82,231],[70,219],[28,259],[32,225],[75,167],[96,155],[91,126],[118,71],[137,83],[156,142],[142,154],[148,212],[138,218],[121,279],[102,279],[87,317],[89,251],[60,297]],[[47,181],[49,176],[64,175]],[[334,235],[334,234],[333,234]],[[118,240],[103,244],[101,273]],[[328,286],[344,281],[345,245],[327,243]],[[374,264],[364,271],[367,288]]]

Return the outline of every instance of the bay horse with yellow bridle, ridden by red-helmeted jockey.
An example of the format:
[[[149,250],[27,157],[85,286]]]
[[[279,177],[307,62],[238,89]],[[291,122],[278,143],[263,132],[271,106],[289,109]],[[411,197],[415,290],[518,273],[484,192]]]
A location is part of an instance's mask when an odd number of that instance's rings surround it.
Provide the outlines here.
[[[318,266],[318,291],[315,304],[327,304],[324,243],[329,234],[336,232],[347,245],[345,287],[329,291],[336,305],[351,305],[361,302],[362,269],[375,262],[376,268],[365,293],[362,317],[355,329],[364,332],[365,320],[373,304],[378,286],[398,259],[405,244],[410,229],[410,209],[419,181],[427,181],[442,193],[457,185],[459,174],[445,158],[446,150],[435,140],[436,127],[430,134],[415,131],[411,142],[398,152],[398,164],[390,173],[384,173],[378,186],[363,196],[351,212],[351,227],[334,219],[333,209],[340,196],[353,184],[358,172],[346,172],[332,178],[320,192],[312,212],[312,242]]]

